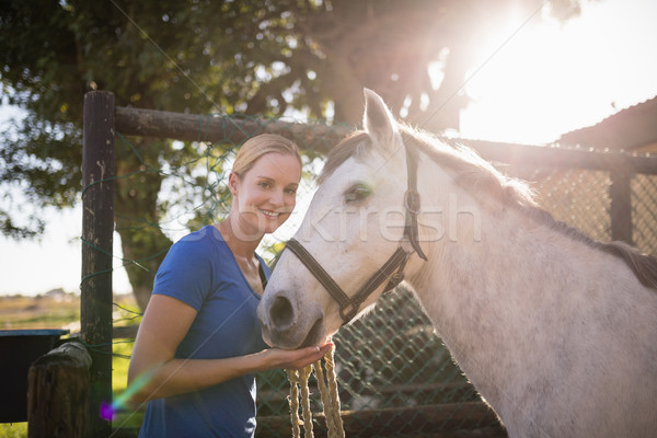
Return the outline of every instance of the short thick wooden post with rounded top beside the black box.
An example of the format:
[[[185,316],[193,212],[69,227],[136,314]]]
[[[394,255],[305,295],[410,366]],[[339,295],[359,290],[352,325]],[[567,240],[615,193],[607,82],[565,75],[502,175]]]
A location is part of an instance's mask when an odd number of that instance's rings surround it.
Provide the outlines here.
[[[28,438],[82,438],[89,426],[91,356],[69,342],[39,357],[27,374]]]

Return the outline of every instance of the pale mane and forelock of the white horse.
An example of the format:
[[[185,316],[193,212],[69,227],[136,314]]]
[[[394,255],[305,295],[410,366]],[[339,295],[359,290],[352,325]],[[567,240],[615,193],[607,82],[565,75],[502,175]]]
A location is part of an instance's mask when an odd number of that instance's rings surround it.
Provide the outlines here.
[[[484,194],[488,199],[514,208],[540,224],[623,260],[642,285],[657,290],[657,258],[653,255],[642,253],[624,242],[596,241],[578,229],[554,219],[549,211],[539,207],[534,200],[534,193],[527,183],[504,175],[471,148],[452,147],[429,132],[403,124],[397,126],[404,145],[422,150],[434,162],[449,169],[453,173],[456,184],[480,198]],[[318,183],[322,184],[350,157],[361,158],[371,146],[372,140],[366,131],[357,130],[346,137],[328,153]]]

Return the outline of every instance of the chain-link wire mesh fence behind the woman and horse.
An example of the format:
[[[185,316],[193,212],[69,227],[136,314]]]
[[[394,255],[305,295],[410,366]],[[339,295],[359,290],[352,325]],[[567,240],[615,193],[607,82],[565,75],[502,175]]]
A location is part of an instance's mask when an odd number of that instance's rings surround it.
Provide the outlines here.
[[[229,193],[224,183],[235,148],[251,136],[276,131],[293,139],[303,150],[303,177],[297,211],[276,233],[263,240],[258,250],[265,260],[273,262],[308,208],[325,151],[344,136],[346,129],[323,125],[324,135],[318,136],[309,134],[314,132],[312,126],[300,130],[297,124],[290,124],[291,128],[286,130],[280,120],[250,118],[251,128],[245,128],[242,122],[243,118],[223,120],[223,126],[232,127],[230,132],[223,129],[222,138],[215,134],[211,142],[194,142],[199,152],[194,160],[172,166],[166,162],[148,163],[140,158],[138,169],[127,169],[117,175],[129,178],[134,191],[141,189],[140,174],[143,172],[157,172],[163,176],[165,195],[161,204],[166,208],[161,211],[160,220],[148,222],[130,218],[132,222],[157,228],[171,240],[176,240],[204,222],[220,220],[228,211]],[[198,122],[201,138],[211,137],[209,122],[207,129],[204,123],[203,119]],[[235,127],[238,125],[240,127]],[[240,134],[239,141],[232,140],[234,132]],[[136,132],[132,129],[128,134]],[[116,148],[140,154],[131,138],[120,132],[120,127],[117,127],[117,138]],[[613,169],[518,166],[500,162],[496,165],[507,174],[529,181],[540,205],[556,219],[593,239],[611,239],[610,172]],[[186,200],[175,204],[169,201],[172,198]],[[630,201],[633,239],[641,250],[654,253],[657,247],[657,177],[632,175]],[[140,268],[138,261],[120,261],[118,266]],[[349,437],[420,437],[473,430],[480,435],[505,436],[494,414],[452,361],[410,291],[397,288],[382,297],[372,312],[343,327],[334,339],[342,407],[351,414],[348,424],[345,424]],[[289,431],[289,383],[285,371],[261,373],[257,382],[257,435],[279,436],[281,430]],[[320,412],[320,395],[312,378],[310,385],[311,406],[313,412]],[[325,434],[321,416],[315,416],[314,422],[315,433],[319,436]]]

